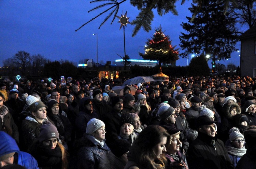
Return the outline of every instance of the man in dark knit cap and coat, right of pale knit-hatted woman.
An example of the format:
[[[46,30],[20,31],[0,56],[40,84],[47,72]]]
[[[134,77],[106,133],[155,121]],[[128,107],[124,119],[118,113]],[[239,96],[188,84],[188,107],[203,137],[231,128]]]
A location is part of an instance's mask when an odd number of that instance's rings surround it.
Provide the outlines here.
[[[111,97],[112,109],[103,118],[103,122],[106,124],[106,140],[107,144],[118,138],[120,133],[120,120],[122,115],[123,99],[119,96]]]

